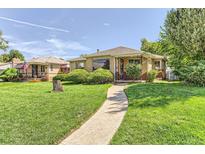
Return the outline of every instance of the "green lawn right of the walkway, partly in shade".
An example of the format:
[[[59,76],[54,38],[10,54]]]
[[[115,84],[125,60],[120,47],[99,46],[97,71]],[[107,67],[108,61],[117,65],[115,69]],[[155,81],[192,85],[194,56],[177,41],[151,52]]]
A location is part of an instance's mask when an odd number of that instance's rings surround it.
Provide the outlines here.
[[[134,84],[128,112],[111,144],[205,144],[205,88]]]

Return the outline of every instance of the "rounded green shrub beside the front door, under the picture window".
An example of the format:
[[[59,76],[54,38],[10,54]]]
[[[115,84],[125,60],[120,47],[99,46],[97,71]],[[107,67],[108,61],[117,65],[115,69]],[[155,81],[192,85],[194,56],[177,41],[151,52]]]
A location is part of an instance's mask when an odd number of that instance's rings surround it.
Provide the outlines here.
[[[113,82],[114,77],[111,71],[98,68],[94,72],[91,72],[88,77],[88,83],[91,84],[103,84]]]

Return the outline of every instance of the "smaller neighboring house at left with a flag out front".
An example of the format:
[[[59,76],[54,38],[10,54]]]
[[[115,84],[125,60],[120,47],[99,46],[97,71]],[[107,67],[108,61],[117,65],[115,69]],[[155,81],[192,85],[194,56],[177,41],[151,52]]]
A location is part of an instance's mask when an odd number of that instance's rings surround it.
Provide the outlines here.
[[[37,57],[18,65],[17,69],[26,79],[51,81],[58,73],[68,73],[69,63],[56,57]]]

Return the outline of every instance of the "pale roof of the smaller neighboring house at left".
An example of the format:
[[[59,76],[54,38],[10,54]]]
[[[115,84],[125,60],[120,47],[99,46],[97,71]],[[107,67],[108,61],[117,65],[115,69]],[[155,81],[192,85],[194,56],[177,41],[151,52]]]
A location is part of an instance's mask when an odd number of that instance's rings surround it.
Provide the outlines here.
[[[32,58],[30,64],[67,64],[67,62],[57,57],[36,57]]]

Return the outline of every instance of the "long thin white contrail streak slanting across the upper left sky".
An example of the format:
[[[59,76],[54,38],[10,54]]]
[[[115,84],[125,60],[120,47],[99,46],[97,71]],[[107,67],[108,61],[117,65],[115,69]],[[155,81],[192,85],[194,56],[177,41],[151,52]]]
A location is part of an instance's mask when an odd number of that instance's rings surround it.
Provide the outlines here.
[[[70,32],[70,31],[67,30],[67,29],[61,29],[61,28],[56,28],[56,27],[44,26],[44,25],[34,24],[34,23],[31,23],[31,22],[16,20],[16,19],[7,18],[7,17],[2,17],[2,16],[0,16],[0,19],[1,19],[1,20],[6,20],[6,21],[11,21],[11,22],[18,23],[18,24],[27,25],[27,26],[32,26],[32,27],[37,27],[37,28],[43,28],[43,29],[47,29],[47,30],[52,30],[52,31],[60,31],[60,32],[65,32],[65,33],[69,33],[69,32]]]

